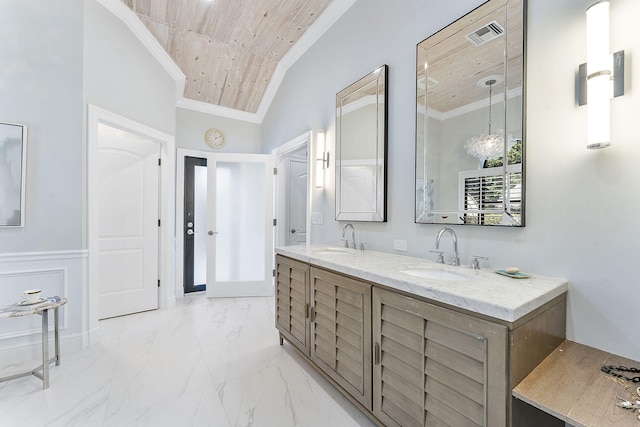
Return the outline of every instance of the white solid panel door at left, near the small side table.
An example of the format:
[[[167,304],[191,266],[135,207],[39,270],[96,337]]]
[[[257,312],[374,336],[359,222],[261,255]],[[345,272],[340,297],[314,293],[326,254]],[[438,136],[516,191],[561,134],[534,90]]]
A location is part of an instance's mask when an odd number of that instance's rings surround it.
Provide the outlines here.
[[[160,144],[99,125],[98,317],[158,308]]]

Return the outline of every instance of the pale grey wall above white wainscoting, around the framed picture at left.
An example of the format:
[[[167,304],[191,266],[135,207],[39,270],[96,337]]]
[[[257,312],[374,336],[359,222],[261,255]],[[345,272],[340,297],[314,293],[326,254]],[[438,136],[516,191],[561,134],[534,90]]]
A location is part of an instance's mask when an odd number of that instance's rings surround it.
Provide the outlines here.
[[[82,247],[82,3],[0,2],[0,121],[28,128],[25,227],[0,253]]]

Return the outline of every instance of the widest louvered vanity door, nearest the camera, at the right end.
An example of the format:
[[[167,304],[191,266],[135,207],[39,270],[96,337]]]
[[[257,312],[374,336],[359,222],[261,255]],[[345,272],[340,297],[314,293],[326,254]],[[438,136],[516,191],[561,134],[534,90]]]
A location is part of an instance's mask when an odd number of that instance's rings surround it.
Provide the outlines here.
[[[376,288],[373,343],[385,425],[508,425],[505,326]]]

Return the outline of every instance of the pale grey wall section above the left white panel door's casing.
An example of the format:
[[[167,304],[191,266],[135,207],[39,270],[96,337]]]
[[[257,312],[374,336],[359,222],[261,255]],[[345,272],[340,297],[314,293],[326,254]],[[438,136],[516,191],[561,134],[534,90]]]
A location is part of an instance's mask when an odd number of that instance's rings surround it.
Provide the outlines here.
[[[84,3],[85,101],[175,135],[174,80],[119,18]]]

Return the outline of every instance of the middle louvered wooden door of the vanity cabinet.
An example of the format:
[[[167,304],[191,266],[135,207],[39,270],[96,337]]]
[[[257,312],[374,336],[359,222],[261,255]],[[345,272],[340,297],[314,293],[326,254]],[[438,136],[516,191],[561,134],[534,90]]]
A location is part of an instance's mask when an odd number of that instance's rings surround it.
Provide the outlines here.
[[[371,410],[371,285],[311,267],[311,359]]]

